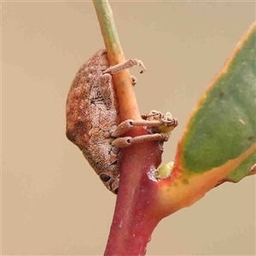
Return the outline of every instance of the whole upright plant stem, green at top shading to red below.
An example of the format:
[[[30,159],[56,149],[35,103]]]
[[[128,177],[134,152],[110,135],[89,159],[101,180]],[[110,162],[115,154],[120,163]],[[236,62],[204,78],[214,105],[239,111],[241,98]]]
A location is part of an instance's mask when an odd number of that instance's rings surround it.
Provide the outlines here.
[[[108,1],[93,0],[111,65],[125,61]],[[141,119],[127,70],[113,75],[120,119]],[[125,136],[146,134],[134,128]],[[144,255],[154,227],[159,223],[158,183],[148,173],[160,165],[162,151],[156,142],[122,149],[119,194],[104,255]]]

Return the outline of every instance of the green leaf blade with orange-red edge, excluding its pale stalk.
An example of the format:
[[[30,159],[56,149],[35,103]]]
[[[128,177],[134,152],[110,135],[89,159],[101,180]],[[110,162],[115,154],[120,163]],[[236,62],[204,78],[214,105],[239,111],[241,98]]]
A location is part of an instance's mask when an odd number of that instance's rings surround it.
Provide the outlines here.
[[[179,152],[180,164],[190,174],[223,166],[255,144],[255,46],[254,24],[196,105]],[[230,178],[246,176],[255,154],[242,161]]]

